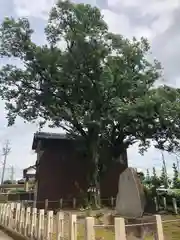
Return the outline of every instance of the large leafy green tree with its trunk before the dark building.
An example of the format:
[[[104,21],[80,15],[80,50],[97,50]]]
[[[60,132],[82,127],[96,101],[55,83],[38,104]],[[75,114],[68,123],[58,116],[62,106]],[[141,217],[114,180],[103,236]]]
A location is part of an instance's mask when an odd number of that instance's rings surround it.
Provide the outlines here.
[[[178,144],[179,93],[155,88],[161,68],[148,61],[146,39],[113,34],[99,9],[69,1],[52,8],[47,45],[35,44],[32,34],[24,18],[6,18],[0,28],[1,56],[22,62],[22,68],[6,65],[0,71],[9,125],[17,116],[41,119],[83,137],[97,188],[102,145],[118,157],[135,142],[141,150],[150,139],[170,151]]]

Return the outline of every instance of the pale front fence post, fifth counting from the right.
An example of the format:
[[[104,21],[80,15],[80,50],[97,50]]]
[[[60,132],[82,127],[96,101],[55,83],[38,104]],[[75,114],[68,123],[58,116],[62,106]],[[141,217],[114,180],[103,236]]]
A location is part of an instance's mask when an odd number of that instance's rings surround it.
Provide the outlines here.
[[[64,238],[64,214],[57,212],[56,214],[56,240]]]

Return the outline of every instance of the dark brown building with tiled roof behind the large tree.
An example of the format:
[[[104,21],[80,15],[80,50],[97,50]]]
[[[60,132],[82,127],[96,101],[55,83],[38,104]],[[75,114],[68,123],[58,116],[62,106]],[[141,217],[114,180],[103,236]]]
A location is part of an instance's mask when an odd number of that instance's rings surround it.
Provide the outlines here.
[[[64,134],[34,134],[32,149],[37,153],[34,195],[38,208],[42,207],[39,203],[44,204],[45,199],[49,200],[51,208],[55,208],[60,198],[79,199],[82,192],[87,192],[89,165],[86,153],[81,151],[81,144],[81,141],[69,139]],[[101,157],[108,157],[106,150]],[[127,168],[127,153],[123,153],[120,159],[100,180],[102,198],[117,194],[119,174]]]

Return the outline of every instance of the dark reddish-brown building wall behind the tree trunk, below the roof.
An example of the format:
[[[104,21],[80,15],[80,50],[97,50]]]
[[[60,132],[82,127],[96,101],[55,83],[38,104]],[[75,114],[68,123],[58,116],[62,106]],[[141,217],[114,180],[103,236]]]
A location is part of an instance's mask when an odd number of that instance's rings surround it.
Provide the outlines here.
[[[127,158],[126,154],[124,157]],[[101,180],[102,198],[116,196],[119,174],[125,168],[126,165],[115,163],[104,175]],[[45,199],[49,200],[52,208],[58,207],[60,198],[65,200],[65,205],[71,204],[73,197],[81,199],[82,192],[88,188],[87,171],[85,156],[71,142],[46,146],[37,171],[37,207],[42,206]]]

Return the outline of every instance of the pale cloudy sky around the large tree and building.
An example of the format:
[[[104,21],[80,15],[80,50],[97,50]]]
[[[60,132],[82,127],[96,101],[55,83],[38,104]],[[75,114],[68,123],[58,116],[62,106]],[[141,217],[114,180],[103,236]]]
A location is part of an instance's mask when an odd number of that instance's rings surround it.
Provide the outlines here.
[[[0,22],[5,17],[27,17],[35,30],[33,41],[45,43],[44,26],[48,12],[55,0],[0,0]],[[180,86],[180,1],[179,0],[76,0],[100,8],[109,30],[128,38],[147,37],[151,44],[152,56],[158,59],[164,68],[164,81],[170,85]],[[0,59],[0,65],[7,60]],[[4,103],[0,100],[0,167],[3,156],[1,146],[10,141],[11,151],[7,159],[7,168],[15,167],[15,177],[21,177],[21,170],[35,163],[36,154],[31,150],[33,134],[38,130],[37,124],[25,124],[17,119],[13,127],[7,128]],[[52,131],[45,128],[44,131]],[[59,132],[54,129],[53,132]],[[175,156],[164,153],[169,173]],[[144,156],[138,153],[138,147],[128,150],[129,166],[146,170],[156,167],[161,169],[161,152],[149,149]],[[6,178],[9,171],[6,172]]]

